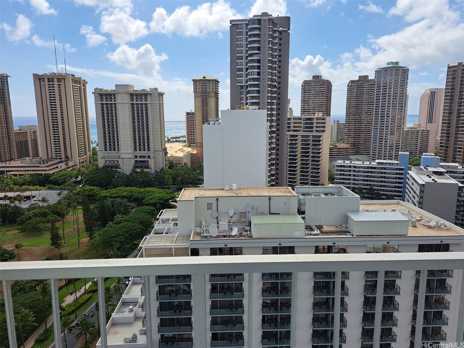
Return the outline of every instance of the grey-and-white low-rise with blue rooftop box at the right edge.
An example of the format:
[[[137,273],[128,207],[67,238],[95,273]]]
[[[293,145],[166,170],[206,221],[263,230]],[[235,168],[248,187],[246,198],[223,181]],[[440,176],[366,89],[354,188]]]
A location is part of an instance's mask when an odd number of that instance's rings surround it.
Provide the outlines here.
[[[440,167],[440,158],[424,154],[420,166],[408,172],[406,202],[464,226],[464,185]]]

